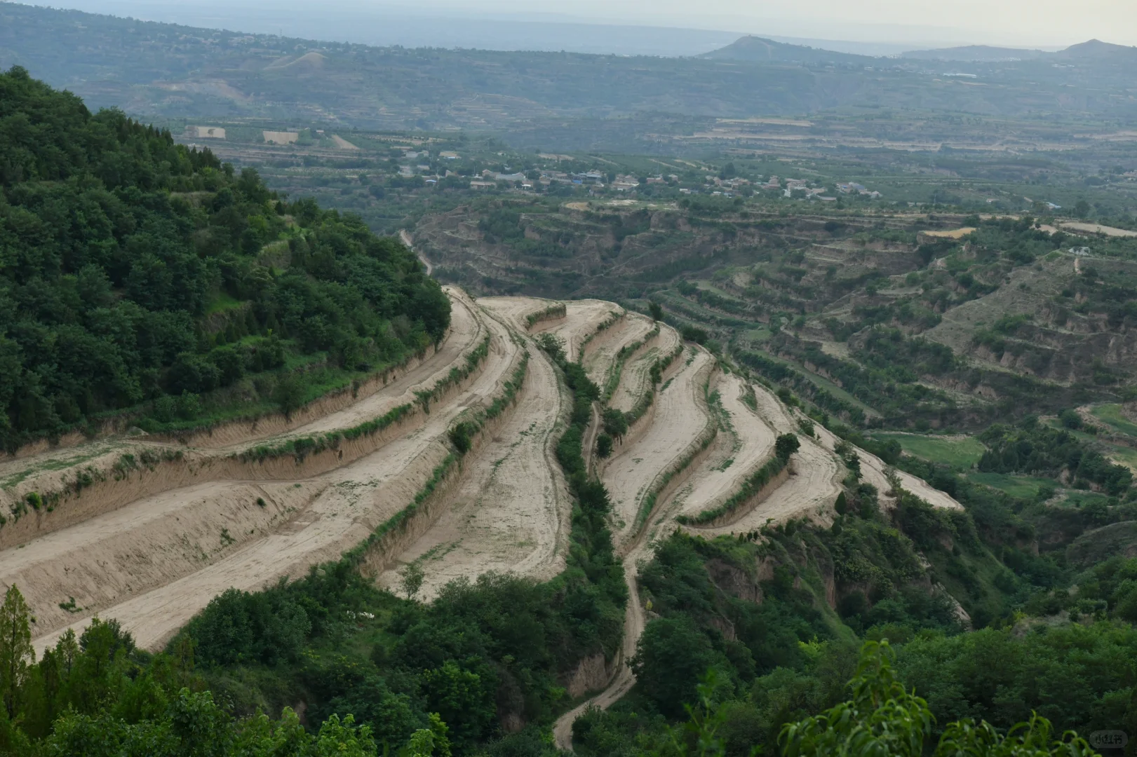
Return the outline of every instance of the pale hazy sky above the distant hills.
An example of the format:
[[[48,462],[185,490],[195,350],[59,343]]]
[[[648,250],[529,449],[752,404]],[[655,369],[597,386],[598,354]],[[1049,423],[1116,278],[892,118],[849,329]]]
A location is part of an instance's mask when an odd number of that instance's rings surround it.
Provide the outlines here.
[[[25,0],[94,13],[160,7],[267,17],[331,14],[498,16],[679,26],[829,40],[1059,48],[1101,39],[1137,45],[1137,0]],[[132,14],[133,15],[133,14]],[[148,14],[139,13],[140,17]],[[149,17],[157,17],[151,13]]]

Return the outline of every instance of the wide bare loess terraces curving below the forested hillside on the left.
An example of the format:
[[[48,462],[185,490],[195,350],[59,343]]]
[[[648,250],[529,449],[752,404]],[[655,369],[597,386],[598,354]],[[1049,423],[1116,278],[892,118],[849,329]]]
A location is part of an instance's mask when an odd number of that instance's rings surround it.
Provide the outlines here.
[[[38,617],[42,635],[36,646],[52,643],[64,627],[83,626],[94,613],[118,618],[140,644],[160,646],[225,589],[257,589],[335,559],[402,509],[449,452],[446,434],[454,419],[500,394],[522,356],[509,328],[487,318],[460,294],[451,297],[459,300],[458,327],[438,355],[458,359],[442,365],[428,360],[358,407],[313,425],[323,430],[339,421],[338,427],[345,427],[413,402],[415,391],[433,388],[451,364],[465,363],[470,350],[460,347],[479,342],[472,335],[489,334],[489,353],[480,367],[429,415],[412,414],[390,433],[347,442],[338,451],[324,452],[323,460],[317,455],[305,461],[289,456],[257,463],[227,449],[189,449],[181,460],[166,464],[168,471],[108,480],[61,502],[55,513],[9,523],[5,535],[13,526],[41,526],[31,541],[0,551],[0,581],[17,582]],[[458,315],[463,308],[465,316]],[[421,380],[412,383],[415,377]],[[98,444],[103,454],[106,447]],[[340,460],[345,464],[338,465]],[[33,469],[40,460],[18,463]],[[49,472],[48,477],[57,473]],[[139,489],[134,476],[161,486],[165,473],[171,474],[172,485],[160,493],[122,501]],[[27,481],[42,484],[42,479],[33,469]],[[192,483],[180,485],[185,481]],[[68,510],[86,517],[68,523]],[[56,527],[58,523],[61,527]],[[59,607],[70,606],[72,599],[73,612]]]

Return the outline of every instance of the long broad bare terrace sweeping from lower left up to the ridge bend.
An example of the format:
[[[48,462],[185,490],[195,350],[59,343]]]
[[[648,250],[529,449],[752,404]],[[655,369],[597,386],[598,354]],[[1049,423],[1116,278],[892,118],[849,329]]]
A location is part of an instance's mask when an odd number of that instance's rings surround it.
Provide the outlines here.
[[[500,391],[515,361],[520,358],[520,348],[508,338],[505,327],[491,319],[487,325],[493,333],[493,344],[487,366],[474,382],[453,402],[434,408],[424,423],[409,433],[391,441],[379,451],[363,457],[337,471],[316,476],[310,482],[276,485],[277,489],[291,486],[302,494],[302,490],[315,493],[310,502],[293,505],[283,522],[262,524],[266,517],[258,510],[262,508],[248,506],[250,493],[244,484],[226,483],[217,489],[193,486],[166,492],[161,497],[165,508],[165,524],[173,531],[171,538],[176,543],[172,550],[185,548],[180,540],[181,518],[192,521],[190,513],[216,511],[224,519],[202,522],[198,529],[216,535],[214,543],[224,541],[221,529],[229,530],[230,538],[240,543],[230,544],[232,549],[221,550],[216,556],[206,556],[197,563],[182,559],[176,555],[168,557],[171,565],[182,565],[185,572],[172,580],[171,571],[151,569],[146,559],[130,559],[131,555],[116,554],[108,549],[101,557],[91,559],[92,542],[106,540],[108,533],[117,533],[130,543],[146,544],[146,529],[152,524],[144,507],[131,508],[130,514],[123,511],[108,513],[91,518],[84,523],[57,532],[49,536],[36,539],[26,546],[28,554],[51,554],[63,565],[70,565],[73,556],[82,554],[85,564],[94,575],[85,575],[84,583],[51,584],[42,592],[34,576],[32,583],[20,585],[28,596],[33,613],[41,618],[36,625],[38,649],[55,643],[64,627],[81,630],[89,623],[90,615],[99,613],[103,617],[115,617],[130,630],[143,648],[160,647],[179,627],[189,621],[208,601],[230,587],[242,590],[257,590],[272,583],[280,576],[299,576],[307,572],[308,566],[337,559],[347,549],[363,541],[375,527],[397,511],[406,507],[414,498],[433,468],[446,457],[447,444],[445,434],[450,422],[464,409],[487,404]],[[260,484],[266,488],[265,484]],[[266,488],[267,490],[267,488]],[[272,497],[272,492],[269,492]],[[276,493],[279,498],[279,492]],[[265,498],[266,501],[269,498]],[[222,507],[216,507],[216,504]],[[275,500],[274,500],[275,501]],[[210,510],[211,508],[211,510]],[[234,511],[251,513],[249,517],[233,521]],[[133,519],[131,519],[133,516]],[[127,522],[122,523],[122,518]],[[116,521],[117,518],[117,521]],[[251,519],[250,519],[251,518]],[[197,521],[193,521],[198,523]],[[252,534],[246,534],[249,530]],[[49,543],[48,539],[63,539],[66,544]],[[209,536],[198,536],[198,532],[186,535],[191,543],[208,541]],[[140,547],[141,548],[141,547]],[[24,550],[5,550],[0,552],[0,582],[8,582],[15,574],[24,571],[27,565],[17,552]],[[13,555],[16,554],[16,557]],[[147,552],[148,554],[148,552]],[[99,561],[101,559],[101,563]],[[14,560],[14,561],[13,561]],[[174,568],[171,568],[172,571]],[[175,571],[176,572],[176,571]],[[93,592],[91,584],[128,585],[128,593],[111,597]],[[74,589],[72,587],[74,585]],[[86,590],[84,591],[84,588]],[[55,592],[66,596],[48,596]],[[60,614],[52,605],[75,598],[75,604],[83,608],[63,623],[56,623]]]

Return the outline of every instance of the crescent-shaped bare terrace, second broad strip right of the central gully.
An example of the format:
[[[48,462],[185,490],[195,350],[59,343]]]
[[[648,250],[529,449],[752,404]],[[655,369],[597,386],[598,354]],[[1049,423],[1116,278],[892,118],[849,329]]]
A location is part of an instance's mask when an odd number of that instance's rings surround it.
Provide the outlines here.
[[[742,401],[746,382],[736,374],[723,375],[713,389],[719,391],[722,409],[730,418],[730,433],[719,434],[715,452],[675,492],[669,510],[683,515],[716,507],[773,455],[777,434]]]

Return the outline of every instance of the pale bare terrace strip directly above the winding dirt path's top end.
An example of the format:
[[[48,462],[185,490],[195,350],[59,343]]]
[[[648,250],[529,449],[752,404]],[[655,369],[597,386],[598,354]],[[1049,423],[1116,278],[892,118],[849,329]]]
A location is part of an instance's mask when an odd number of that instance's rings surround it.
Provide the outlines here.
[[[649,484],[661,471],[682,458],[706,425],[699,396],[713,363],[709,353],[698,350],[655,398],[655,417],[648,432],[604,466],[600,479],[612,498],[616,543],[632,536]]]

